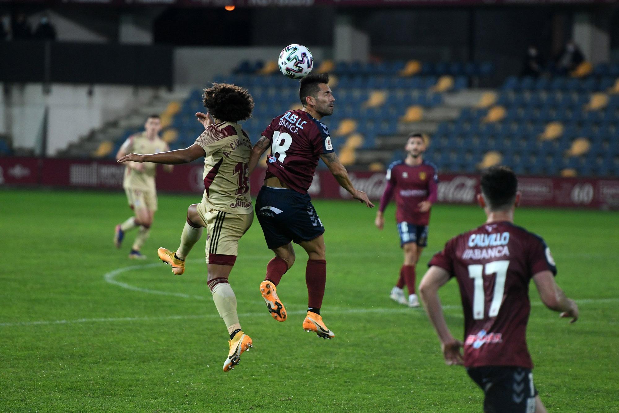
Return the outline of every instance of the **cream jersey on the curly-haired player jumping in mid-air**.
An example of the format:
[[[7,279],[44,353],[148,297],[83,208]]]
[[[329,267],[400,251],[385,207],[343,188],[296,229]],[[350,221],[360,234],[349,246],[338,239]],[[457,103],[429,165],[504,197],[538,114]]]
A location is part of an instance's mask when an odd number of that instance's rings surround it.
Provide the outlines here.
[[[196,139],[204,149],[202,203],[218,211],[251,214],[249,155],[251,141],[238,123],[215,123]]]

